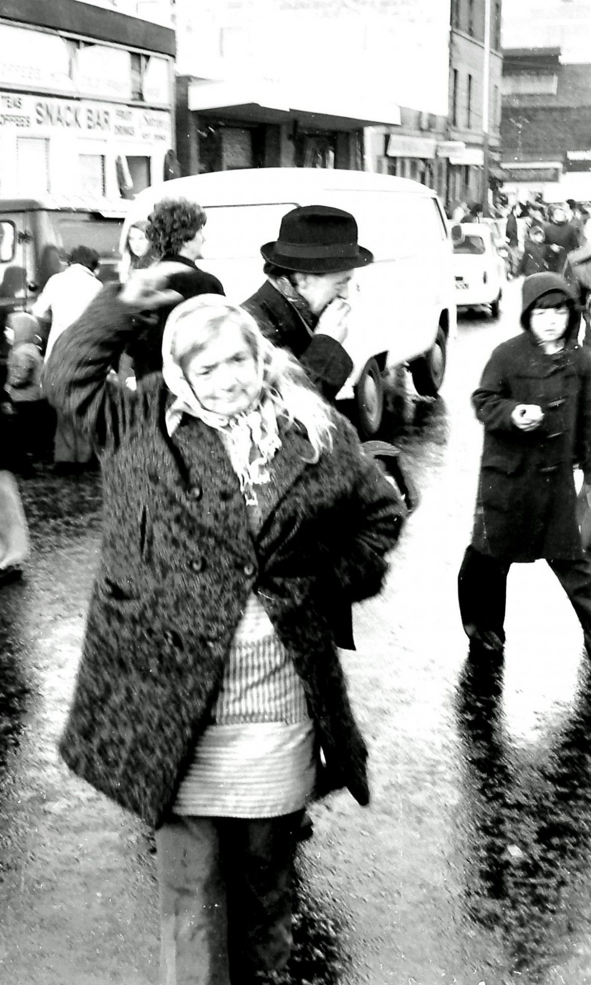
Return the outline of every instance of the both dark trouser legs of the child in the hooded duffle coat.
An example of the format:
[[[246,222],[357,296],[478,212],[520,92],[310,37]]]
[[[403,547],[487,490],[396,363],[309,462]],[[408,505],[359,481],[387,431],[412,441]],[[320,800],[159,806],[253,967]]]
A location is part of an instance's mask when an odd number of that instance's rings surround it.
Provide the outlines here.
[[[591,655],[591,558],[552,560],[548,563],[570,600]],[[504,643],[507,573],[511,561],[493,558],[469,547],[458,574],[458,599],[464,630],[485,649],[500,650]]]

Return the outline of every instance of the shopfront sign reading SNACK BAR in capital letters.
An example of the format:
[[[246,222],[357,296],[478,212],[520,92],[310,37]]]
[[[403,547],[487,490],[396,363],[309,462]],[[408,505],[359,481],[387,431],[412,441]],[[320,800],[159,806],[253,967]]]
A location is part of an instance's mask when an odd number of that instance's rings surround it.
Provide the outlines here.
[[[170,114],[93,99],[50,99],[20,93],[0,94],[0,133],[27,130],[48,137],[57,132],[112,135],[135,141],[171,140]]]

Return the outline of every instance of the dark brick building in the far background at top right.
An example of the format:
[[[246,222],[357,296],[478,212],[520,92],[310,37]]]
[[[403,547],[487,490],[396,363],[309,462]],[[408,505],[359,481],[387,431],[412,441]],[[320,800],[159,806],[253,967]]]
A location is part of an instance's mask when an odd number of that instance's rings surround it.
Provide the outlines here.
[[[562,64],[559,48],[506,49],[501,139],[510,195],[591,200],[591,64]]]

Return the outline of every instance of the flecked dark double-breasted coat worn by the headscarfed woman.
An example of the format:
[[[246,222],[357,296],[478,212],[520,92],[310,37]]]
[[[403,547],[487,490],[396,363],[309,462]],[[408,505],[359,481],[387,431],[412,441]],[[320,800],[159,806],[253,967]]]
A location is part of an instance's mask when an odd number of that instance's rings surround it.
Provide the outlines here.
[[[234,630],[258,592],[302,681],[322,748],[319,793],[368,802],[366,748],[326,613],[329,575],[351,601],[377,593],[405,507],[340,415],[334,448],[309,464],[305,433],[283,446],[253,540],[218,433],[196,419],[187,463],[167,436],[162,374],[135,393],[107,379],[131,319],[109,288],[58,340],[52,404],[101,450],[104,518],[73,704],[60,742],[70,768],[159,826],[222,681]]]

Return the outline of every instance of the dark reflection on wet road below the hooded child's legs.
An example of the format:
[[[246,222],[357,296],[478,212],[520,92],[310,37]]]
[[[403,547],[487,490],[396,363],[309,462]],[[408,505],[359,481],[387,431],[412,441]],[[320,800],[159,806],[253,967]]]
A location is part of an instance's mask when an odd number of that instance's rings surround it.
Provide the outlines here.
[[[502,670],[466,662],[457,690],[469,919],[500,932],[507,970],[542,981],[588,933],[591,668],[567,720],[535,749],[503,729]],[[523,981],[523,978],[520,980]]]

